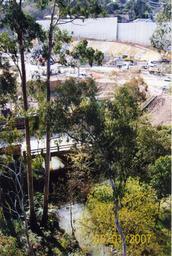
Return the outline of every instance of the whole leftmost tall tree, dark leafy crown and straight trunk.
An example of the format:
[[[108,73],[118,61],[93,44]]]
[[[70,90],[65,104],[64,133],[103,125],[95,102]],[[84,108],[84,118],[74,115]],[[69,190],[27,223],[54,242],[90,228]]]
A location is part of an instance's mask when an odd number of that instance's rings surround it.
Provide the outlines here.
[[[26,67],[24,52],[30,50],[32,40],[39,38],[44,39],[44,32],[38,23],[34,22],[34,17],[25,14],[22,11],[22,0],[20,1],[1,1],[1,10],[4,11],[3,18],[0,22],[1,29],[8,29],[1,35],[1,51],[12,53],[12,57],[20,54],[21,71],[20,78],[22,80],[23,89],[23,105],[25,113],[28,111],[27,93],[26,93]],[[9,32],[10,31],[10,32]],[[9,42],[7,41],[9,38]],[[11,48],[12,46],[12,48]],[[18,58],[17,58],[18,59]],[[17,65],[18,67],[18,65]],[[26,145],[27,145],[27,165],[28,165],[28,197],[30,205],[30,221],[31,227],[36,227],[36,214],[34,211],[34,190],[33,178],[31,171],[31,143],[28,118],[25,118],[26,128]]]

